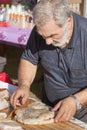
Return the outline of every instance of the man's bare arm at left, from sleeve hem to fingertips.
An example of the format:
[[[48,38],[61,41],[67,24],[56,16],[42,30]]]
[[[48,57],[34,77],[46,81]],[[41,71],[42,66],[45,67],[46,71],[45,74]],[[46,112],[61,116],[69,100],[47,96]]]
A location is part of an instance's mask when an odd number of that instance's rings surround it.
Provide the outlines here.
[[[11,96],[11,104],[14,108],[21,106],[29,97],[30,85],[35,78],[37,65],[21,59],[18,71],[19,88]]]

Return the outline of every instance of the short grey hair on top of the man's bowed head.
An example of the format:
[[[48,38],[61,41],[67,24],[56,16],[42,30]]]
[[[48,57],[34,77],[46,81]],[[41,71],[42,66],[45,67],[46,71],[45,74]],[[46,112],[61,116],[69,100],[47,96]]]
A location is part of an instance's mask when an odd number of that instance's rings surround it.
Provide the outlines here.
[[[43,26],[50,19],[63,26],[72,13],[67,0],[40,0],[33,9],[33,20],[36,26]]]

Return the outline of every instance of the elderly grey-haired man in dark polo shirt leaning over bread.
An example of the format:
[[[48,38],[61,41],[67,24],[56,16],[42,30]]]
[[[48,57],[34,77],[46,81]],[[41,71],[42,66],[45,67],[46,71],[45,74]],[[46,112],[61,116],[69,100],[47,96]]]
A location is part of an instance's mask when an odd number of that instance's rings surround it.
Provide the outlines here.
[[[87,19],[71,12],[66,0],[41,0],[33,17],[35,27],[20,61],[12,105],[25,103],[41,63],[43,102],[56,111],[55,122],[73,116],[87,122]]]

